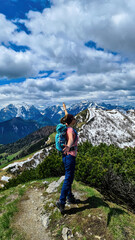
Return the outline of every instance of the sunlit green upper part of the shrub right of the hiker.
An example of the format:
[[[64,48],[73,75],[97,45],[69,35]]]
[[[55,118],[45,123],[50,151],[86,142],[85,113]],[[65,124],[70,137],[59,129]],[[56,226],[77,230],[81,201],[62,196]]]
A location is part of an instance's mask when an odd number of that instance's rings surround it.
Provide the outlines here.
[[[76,162],[76,179],[85,183],[99,186],[110,169],[125,181],[135,182],[135,149],[121,149],[103,143],[92,146],[86,141],[79,145]]]

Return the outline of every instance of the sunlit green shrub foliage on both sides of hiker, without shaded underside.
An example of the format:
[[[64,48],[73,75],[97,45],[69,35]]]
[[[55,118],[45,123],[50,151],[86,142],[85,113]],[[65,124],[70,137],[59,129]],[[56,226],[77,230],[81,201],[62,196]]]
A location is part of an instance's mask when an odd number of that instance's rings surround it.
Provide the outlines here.
[[[121,149],[114,145],[101,143],[92,146],[86,141],[78,146],[76,158],[76,180],[99,187],[103,177],[110,169],[123,177],[126,182],[135,182],[135,149]],[[64,174],[62,156],[56,150],[40,163],[36,169],[26,170],[6,186],[15,186],[21,182],[46,177],[57,177]]]

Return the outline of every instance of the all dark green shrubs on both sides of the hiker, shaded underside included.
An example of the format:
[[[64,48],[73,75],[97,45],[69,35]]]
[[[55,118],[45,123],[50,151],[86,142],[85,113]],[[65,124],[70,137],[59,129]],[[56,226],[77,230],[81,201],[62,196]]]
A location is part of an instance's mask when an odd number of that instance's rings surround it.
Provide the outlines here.
[[[9,180],[5,188],[63,174],[62,156],[53,150],[36,169],[27,170],[17,178]],[[134,207],[135,149],[121,149],[103,143],[92,146],[86,141],[78,146],[75,179],[116,195]]]

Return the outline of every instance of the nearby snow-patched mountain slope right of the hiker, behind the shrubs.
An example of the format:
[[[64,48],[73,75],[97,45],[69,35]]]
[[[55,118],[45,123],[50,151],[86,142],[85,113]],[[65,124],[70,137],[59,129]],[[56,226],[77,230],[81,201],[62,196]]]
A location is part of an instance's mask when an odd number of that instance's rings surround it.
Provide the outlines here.
[[[135,111],[124,114],[118,110],[89,107],[77,116],[79,141],[93,145],[106,143],[121,148],[135,147]]]

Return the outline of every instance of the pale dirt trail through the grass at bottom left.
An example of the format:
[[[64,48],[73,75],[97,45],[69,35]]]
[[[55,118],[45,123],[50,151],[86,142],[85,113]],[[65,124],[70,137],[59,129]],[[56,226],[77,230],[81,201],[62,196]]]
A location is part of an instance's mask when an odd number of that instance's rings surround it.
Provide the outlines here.
[[[19,212],[13,220],[13,227],[25,235],[26,240],[52,240],[49,232],[42,224],[44,212],[43,190],[29,189],[19,203]]]

